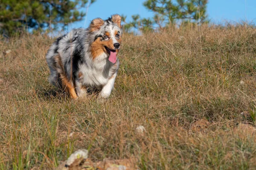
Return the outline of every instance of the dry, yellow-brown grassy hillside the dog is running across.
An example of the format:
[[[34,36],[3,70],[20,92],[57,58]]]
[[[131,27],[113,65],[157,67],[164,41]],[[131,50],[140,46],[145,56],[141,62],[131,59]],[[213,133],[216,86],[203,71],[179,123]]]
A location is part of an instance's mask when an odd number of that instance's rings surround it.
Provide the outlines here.
[[[136,158],[144,170],[256,168],[255,28],[122,39],[105,102],[68,99],[49,84],[44,57],[54,39],[0,41],[0,169],[53,169],[80,148],[93,161]]]

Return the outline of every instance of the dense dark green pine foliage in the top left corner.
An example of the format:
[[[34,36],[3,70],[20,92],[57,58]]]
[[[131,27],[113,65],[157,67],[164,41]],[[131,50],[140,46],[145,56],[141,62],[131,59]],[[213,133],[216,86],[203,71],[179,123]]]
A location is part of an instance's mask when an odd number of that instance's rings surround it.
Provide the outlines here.
[[[0,0],[0,34],[8,36],[23,30],[65,28],[68,23],[82,20],[85,13],[79,9],[94,1]]]

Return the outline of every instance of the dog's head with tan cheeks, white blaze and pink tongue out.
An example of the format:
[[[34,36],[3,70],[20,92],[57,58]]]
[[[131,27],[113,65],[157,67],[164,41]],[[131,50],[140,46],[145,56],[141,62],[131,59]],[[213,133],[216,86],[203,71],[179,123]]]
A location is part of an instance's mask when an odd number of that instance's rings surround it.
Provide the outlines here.
[[[108,20],[96,18],[90,23],[89,31],[94,37],[90,48],[93,59],[105,53],[109,61],[115,63],[122,41],[121,16],[115,14]]]

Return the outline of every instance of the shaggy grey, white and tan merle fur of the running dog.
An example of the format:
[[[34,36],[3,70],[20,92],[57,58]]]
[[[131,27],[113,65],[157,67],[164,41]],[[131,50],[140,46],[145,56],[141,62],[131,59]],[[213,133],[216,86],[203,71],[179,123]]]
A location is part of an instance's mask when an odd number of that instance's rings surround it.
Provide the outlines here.
[[[49,82],[70,94],[82,96],[87,88],[101,89],[108,98],[119,68],[119,59],[110,62],[110,51],[118,54],[121,44],[121,17],[94,19],[86,29],[73,29],[58,37],[50,46],[46,59],[50,69]]]

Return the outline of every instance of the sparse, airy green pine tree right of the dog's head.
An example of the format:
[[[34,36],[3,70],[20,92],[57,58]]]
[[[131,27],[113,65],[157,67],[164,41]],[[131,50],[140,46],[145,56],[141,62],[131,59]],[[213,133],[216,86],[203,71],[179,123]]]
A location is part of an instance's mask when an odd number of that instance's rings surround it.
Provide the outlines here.
[[[169,24],[208,22],[206,7],[208,0],[146,0],[143,6],[154,12],[153,18],[141,18],[133,15],[132,21],[125,24],[125,30],[131,28],[140,31],[152,31]],[[124,17],[123,17],[124,18]]]

